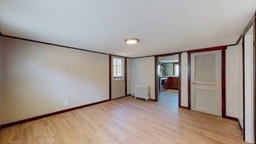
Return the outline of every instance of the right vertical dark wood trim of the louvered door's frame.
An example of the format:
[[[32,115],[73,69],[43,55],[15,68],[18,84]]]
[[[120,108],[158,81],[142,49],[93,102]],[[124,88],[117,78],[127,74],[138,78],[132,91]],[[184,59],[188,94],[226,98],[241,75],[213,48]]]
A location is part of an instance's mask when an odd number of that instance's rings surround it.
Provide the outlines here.
[[[221,50],[221,115],[226,116],[226,49]]]

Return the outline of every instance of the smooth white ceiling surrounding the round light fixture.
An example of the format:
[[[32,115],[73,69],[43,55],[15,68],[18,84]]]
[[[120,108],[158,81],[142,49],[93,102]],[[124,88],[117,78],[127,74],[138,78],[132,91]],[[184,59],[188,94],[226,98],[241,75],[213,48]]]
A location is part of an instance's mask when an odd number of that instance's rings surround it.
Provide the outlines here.
[[[235,44],[255,7],[255,0],[1,0],[0,31],[134,58]],[[140,42],[127,45],[129,37]]]

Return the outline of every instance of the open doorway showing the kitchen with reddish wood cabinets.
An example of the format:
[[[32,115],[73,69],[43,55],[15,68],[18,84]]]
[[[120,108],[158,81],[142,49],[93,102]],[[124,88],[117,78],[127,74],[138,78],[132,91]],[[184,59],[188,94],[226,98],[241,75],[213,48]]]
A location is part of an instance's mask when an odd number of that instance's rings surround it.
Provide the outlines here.
[[[181,106],[181,54],[155,57],[155,100]]]

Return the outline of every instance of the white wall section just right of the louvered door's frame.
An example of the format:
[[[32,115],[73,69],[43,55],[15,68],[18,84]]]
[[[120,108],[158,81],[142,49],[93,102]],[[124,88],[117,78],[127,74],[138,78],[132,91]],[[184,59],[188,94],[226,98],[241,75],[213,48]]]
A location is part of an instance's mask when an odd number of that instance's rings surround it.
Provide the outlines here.
[[[226,115],[243,125],[242,44],[226,49]]]

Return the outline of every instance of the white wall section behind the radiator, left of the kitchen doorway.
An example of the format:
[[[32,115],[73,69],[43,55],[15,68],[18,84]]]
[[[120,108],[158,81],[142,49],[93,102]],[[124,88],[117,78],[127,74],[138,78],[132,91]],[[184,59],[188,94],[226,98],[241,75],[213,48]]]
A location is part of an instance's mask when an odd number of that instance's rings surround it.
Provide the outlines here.
[[[150,98],[155,100],[155,58],[135,58],[131,60],[131,86],[134,94],[135,84],[150,86]]]

